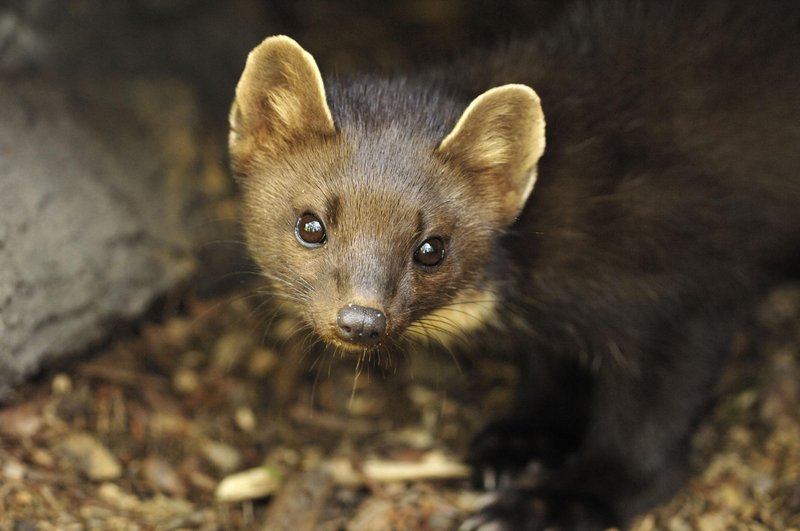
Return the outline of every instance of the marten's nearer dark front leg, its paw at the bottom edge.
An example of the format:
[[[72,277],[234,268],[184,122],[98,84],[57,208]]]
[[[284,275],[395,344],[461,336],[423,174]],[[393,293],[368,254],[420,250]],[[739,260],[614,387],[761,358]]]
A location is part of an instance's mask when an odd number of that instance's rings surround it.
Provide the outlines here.
[[[687,478],[692,427],[727,350],[714,328],[695,322],[668,350],[604,358],[574,457],[522,474],[462,529],[624,527],[670,496]]]

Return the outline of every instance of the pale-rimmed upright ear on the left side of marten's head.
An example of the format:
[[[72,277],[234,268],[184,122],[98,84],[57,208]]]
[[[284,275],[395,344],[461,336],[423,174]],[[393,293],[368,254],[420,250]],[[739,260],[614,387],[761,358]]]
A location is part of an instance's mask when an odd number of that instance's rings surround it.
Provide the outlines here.
[[[268,37],[247,56],[231,108],[232,157],[275,155],[287,143],[336,132],[314,58],[289,37]]]

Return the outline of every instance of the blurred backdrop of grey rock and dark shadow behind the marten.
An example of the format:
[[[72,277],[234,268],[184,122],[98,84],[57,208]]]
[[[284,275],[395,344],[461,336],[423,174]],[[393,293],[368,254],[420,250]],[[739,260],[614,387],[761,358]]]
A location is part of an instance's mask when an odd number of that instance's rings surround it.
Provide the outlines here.
[[[0,2],[0,400],[154,300],[247,269],[225,161],[247,52],[406,70],[547,24],[554,0]]]

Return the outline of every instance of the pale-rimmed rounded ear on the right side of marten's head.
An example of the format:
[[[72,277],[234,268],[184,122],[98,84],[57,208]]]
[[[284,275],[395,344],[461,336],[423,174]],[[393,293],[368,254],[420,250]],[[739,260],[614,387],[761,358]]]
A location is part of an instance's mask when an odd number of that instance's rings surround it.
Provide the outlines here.
[[[467,173],[470,186],[508,224],[533,190],[544,143],[539,96],[525,85],[503,85],[469,104],[438,153]]]

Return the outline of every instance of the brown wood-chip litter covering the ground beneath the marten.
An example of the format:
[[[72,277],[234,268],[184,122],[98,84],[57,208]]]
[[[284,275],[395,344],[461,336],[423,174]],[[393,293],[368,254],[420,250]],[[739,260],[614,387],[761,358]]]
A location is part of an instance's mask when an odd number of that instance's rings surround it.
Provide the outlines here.
[[[458,463],[507,407],[502,360],[317,352],[252,287],[155,318],[0,409],[0,529],[458,527],[481,502]],[[800,287],[737,338],[696,473],[651,529],[800,529]]]

